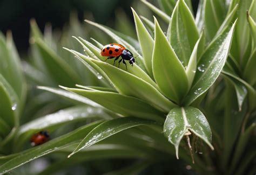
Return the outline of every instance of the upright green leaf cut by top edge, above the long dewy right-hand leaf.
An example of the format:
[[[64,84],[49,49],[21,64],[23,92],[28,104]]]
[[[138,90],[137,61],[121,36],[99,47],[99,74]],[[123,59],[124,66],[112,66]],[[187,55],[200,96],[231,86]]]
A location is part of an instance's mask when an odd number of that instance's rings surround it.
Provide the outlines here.
[[[221,0],[206,0],[204,3],[204,24],[206,38],[210,41],[223,23],[225,4]]]

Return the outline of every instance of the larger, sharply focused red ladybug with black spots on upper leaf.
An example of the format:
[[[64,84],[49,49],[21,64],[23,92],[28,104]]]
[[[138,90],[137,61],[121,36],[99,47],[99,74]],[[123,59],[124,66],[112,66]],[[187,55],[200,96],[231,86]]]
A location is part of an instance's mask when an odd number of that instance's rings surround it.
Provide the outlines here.
[[[127,50],[123,45],[117,43],[110,43],[105,45],[100,51],[100,54],[104,57],[108,57],[107,59],[116,58],[114,59],[114,62],[116,62],[118,58],[121,56],[122,59],[118,61],[118,67],[120,66],[120,62],[123,60],[123,64],[125,64],[126,70],[127,65],[125,63],[125,60],[129,60],[130,65],[133,65],[133,63],[135,62],[135,59],[131,51]]]

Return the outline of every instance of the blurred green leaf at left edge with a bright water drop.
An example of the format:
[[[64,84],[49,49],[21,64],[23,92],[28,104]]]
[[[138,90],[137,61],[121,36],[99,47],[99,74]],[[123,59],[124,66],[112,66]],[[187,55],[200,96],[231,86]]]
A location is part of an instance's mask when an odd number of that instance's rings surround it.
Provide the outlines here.
[[[21,103],[11,85],[0,74],[0,116],[9,127],[18,126]]]

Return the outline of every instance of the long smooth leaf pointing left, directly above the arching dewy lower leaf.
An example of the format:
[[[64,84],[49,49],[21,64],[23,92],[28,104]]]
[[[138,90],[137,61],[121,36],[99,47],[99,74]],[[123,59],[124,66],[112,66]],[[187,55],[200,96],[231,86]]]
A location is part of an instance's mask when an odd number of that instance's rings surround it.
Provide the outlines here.
[[[74,92],[76,94],[83,95],[88,99],[97,102],[103,107],[110,109],[116,113],[122,114],[124,116],[136,116],[140,118],[146,118],[149,120],[164,122],[163,118],[161,118],[161,116],[164,116],[162,113],[154,109],[149,104],[134,97],[125,96],[112,92],[102,92],[99,90],[85,90],[66,87],[62,88]]]

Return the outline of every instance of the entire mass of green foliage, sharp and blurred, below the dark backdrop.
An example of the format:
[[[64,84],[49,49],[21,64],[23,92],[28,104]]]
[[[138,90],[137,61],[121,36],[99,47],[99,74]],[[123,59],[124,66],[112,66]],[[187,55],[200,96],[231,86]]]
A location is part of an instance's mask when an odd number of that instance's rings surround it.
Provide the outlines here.
[[[196,18],[191,1],[158,3],[134,4],[135,29],[122,12],[117,30],[32,19],[28,61],[1,34],[0,173],[255,173],[255,0],[200,1]],[[133,67],[103,61],[112,41]]]

